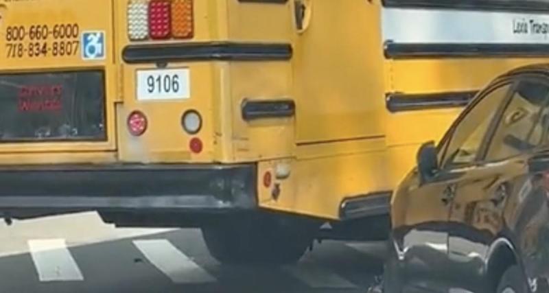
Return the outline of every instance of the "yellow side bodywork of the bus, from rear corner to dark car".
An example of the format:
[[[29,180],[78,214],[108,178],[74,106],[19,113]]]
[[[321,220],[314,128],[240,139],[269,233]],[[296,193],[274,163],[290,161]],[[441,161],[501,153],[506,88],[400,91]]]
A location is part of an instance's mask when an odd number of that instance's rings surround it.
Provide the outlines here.
[[[292,188],[281,188],[277,200],[271,189],[260,189],[259,204],[268,209],[341,219],[346,198],[393,189],[414,167],[419,145],[439,141],[464,106],[391,111],[389,95],[472,97],[505,71],[549,60],[488,54],[387,58],[382,36],[386,8],[379,1],[314,1],[309,9],[311,21],[294,40],[292,61],[299,108]],[[258,176],[267,169],[260,164]]]

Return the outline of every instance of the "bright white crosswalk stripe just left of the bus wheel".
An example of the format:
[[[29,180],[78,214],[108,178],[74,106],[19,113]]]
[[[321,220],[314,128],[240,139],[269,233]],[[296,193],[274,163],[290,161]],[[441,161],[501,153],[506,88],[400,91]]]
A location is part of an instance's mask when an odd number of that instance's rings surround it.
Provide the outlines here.
[[[166,239],[135,240],[141,253],[174,283],[211,283],[215,278]]]

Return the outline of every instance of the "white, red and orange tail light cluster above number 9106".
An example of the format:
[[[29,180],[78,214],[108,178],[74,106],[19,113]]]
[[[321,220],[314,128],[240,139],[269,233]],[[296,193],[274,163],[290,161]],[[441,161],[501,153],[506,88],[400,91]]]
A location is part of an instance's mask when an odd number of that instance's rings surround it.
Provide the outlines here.
[[[127,12],[132,41],[194,37],[193,0],[130,0]]]

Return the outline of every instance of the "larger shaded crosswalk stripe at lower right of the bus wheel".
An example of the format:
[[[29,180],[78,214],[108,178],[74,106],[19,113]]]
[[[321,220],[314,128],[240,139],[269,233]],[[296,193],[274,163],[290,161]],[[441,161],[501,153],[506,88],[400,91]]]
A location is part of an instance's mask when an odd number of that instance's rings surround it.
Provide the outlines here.
[[[307,284],[311,288],[331,288],[331,289],[355,289],[356,285],[343,279],[335,272],[319,266],[314,261],[302,260],[295,266],[284,266],[283,270],[291,274],[296,279]]]

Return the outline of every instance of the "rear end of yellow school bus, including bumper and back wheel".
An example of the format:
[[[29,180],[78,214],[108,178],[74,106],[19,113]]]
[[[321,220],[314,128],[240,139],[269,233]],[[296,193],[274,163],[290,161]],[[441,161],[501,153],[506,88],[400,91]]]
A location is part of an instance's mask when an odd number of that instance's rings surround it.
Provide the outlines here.
[[[286,244],[235,228],[258,219],[258,192],[280,191],[269,162],[293,155],[291,7],[0,3],[0,216],[91,210],[118,226],[207,227],[222,261],[299,257],[308,220],[261,218]]]

